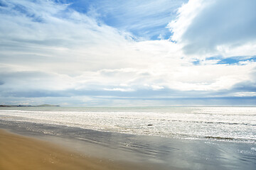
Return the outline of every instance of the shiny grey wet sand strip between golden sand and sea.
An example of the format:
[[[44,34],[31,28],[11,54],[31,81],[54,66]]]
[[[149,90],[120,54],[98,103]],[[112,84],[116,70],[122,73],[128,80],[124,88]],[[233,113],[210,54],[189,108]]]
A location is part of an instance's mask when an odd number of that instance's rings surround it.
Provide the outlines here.
[[[255,169],[255,143],[180,140],[0,120],[0,128],[34,137],[117,169]],[[136,168],[139,167],[139,168]]]

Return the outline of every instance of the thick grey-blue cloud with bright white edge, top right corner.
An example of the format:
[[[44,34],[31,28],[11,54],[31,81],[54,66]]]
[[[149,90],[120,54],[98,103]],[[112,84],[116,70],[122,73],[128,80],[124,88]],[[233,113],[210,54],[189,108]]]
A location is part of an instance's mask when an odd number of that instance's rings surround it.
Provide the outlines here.
[[[256,1],[191,0],[169,23],[186,55],[256,55]]]

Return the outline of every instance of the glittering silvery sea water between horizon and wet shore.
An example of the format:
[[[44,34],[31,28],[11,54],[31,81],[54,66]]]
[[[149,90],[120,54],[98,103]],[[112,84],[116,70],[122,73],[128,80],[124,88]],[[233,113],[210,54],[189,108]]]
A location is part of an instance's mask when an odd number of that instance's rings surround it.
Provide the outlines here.
[[[179,139],[256,142],[256,107],[13,107],[0,108],[0,120]]]

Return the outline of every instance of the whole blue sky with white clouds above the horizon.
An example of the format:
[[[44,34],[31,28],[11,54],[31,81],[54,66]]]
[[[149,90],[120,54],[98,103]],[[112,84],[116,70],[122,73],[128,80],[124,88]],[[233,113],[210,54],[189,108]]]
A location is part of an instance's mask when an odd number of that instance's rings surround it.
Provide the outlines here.
[[[0,104],[255,106],[255,0],[0,0]]]

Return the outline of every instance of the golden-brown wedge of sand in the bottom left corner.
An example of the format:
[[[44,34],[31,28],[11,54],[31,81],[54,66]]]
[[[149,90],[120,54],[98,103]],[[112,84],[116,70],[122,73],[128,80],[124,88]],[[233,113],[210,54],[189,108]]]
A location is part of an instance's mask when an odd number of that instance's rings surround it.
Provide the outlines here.
[[[48,142],[0,130],[0,169],[141,169],[70,152]]]

